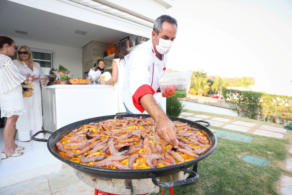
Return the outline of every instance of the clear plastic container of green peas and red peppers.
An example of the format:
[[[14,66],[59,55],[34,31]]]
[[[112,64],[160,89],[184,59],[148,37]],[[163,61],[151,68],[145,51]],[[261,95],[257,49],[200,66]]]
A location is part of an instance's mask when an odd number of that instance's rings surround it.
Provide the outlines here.
[[[191,85],[192,72],[169,72],[159,79],[162,97],[185,98]]]

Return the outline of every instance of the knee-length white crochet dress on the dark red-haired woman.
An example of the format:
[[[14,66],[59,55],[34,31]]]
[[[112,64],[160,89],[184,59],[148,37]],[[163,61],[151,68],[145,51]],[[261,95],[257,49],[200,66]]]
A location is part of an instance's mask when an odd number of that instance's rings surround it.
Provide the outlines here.
[[[1,118],[25,113],[22,87],[20,83],[26,80],[21,75],[12,59],[0,54],[0,109]]]

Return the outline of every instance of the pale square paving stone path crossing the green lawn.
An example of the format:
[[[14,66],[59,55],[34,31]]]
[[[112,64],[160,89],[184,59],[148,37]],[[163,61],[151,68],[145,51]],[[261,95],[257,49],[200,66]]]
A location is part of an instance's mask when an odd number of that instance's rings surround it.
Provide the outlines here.
[[[210,122],[211,126],[222,127],[225,129],[231,129],[235,131],[241,131],[251,133],[254,135],[275,137],[283,139],[287,130],[284,128],[273,127],[268,125],[258,125],[256,123],[244,122],[239,120],[225,119],[222,117],[214,117],[210,115],[193,114],[189,112],[182,112],[179,118],[188,119],[191,121],[203,120]],[[202,123],[203,124],[203,123]],[[289,147],[289,153],[292,154],[292,145]],[[288,157],[285,168],[292,172],[292,158]],[[282,175],[279,183],[280,195],[292,195],[292,177]]]

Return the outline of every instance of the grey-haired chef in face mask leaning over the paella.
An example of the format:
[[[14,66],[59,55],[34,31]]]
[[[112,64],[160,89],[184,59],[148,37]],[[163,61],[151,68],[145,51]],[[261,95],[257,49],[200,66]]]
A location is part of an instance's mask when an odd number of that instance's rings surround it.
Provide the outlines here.
[[[155,20],[152,38],[125,56],[127,69],[122,90],[127,112],[148,112],[157,123],[158,136],[174,147],[178,146],[176,128],[157,105],[153,94],[160,92],[158,80],[165,73],[167,53],[176,32],[177,21],[171,16],[162,15]]]

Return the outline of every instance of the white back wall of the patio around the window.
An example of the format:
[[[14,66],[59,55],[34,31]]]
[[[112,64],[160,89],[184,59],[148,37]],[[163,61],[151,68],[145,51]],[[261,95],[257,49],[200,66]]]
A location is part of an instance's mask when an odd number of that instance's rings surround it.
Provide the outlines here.
[[[16,45],[27,45],[30,48],[46,49],[55,52],[54,68],[57,68],[59,64],[65,66],[73,74],[74,78],[82,77],[82,49],[73,48],[63,45],[56,45],[50,43],[43,43],[38,41],[31,41],[26,39],[14,38],[9,35],[5,35],[13,39]]]

